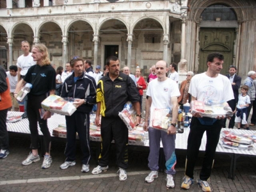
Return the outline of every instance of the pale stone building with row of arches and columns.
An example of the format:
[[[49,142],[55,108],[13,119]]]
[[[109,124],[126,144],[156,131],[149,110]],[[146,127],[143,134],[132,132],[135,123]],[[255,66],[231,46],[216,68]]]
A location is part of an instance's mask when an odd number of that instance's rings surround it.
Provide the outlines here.
[[[236,65],[246,76],[256,65],[255,0],[1,0],[0,8],[6,68],[16,64],[22,40],[47,45],[56,66],[78,55],[103,67],[116,55],[144,75],[157,60],[182,59],[199,73],[213,51],[225,56],[223,74]]]

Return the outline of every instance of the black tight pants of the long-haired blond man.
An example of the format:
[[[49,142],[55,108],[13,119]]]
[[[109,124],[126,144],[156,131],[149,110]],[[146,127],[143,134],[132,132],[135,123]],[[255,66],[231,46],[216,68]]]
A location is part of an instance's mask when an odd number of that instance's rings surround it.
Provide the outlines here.
[[[45,152],[49,153],[51,148],[51,134],[47,127],[47,120],[41,118],[39,109],[42,108],[41,102],[46,98],[44,95],[28,95],[28,121],[29,130],[31,132],[31,146],[32,149],[38,149],[38,129],[37,122],[40,130],[44,135]]]

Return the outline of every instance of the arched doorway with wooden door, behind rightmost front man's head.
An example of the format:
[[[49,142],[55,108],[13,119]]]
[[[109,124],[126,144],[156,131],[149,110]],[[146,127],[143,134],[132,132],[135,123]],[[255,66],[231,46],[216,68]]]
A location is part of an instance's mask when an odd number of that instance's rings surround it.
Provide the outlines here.
[[[200,15],[200,51],[198,73],[207,70],[207,55],[211,52],[220,52],[224,55],[223,70],[221,74],[228,73],[228,67],[233,64],[234,42],[236,28],[230,21],[236,21],[234,10],[223,4],[213,4],[205,8]]]

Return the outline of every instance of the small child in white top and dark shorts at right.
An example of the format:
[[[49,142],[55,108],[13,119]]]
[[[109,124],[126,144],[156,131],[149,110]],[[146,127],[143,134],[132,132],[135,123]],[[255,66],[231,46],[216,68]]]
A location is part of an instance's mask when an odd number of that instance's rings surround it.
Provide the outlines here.
[[[238,102],[236,106],[236,118],[235,122],[237,122],[237,128],[240,129],[241,127],[241,120],[242,124],[245,125],[246,130],[250,130],[248,127],[248,123],[246,122],[246,111],[251,103],[250,97],[247,95],[249,87],[247,85],[243,85],[241,87],[241,95],[238,97]]]

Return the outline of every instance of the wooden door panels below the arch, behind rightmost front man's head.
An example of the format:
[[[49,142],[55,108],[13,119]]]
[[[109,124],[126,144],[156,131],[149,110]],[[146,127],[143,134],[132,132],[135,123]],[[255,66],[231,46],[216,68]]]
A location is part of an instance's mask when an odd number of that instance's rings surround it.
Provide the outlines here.
[[[212,52],[220,52],[224,56],[221,74],[228,74],[232,65],[235,29],[230,28],[201,28],[198,73],[207,70],[207,56]]]

